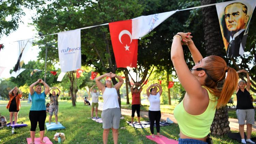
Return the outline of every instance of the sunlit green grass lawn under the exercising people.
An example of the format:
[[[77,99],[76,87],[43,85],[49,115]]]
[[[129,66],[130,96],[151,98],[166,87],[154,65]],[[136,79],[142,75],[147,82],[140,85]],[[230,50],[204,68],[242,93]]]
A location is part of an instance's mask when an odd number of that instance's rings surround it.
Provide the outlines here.
[[[47,100],[49,101],[49,100]],[[17,134],[11,135],[11,128],[4,127],[0,129],[0,143],[4,144],[26,144],[26,138],[30,137],[30,121],[29,121],[29,109],[30,105],[27,101],[22,101],[22,107],[18,116],[18,123],[24,122],[28,124],[28,127],[17,128],[15,132]],[[88,119],[90,117],[90,106],[84,106],[83,102],[77,102],[77,106],[73,107],[71,101],[60,101],[59,102],[59,121],[66,127],[64,130],[56,131],[45,131],[45,136],[55,144],[53,136],[56,132],[63,132],[66,136],[66,141],[63,144],[98,144],[103,143],[102,141],[102,124],[96,123],[95,121]],[[9,111],[5,108],[7,101],[0,101],[0,113],[4,115],[9,123]],[[161,107],[162,108],[162,107]],[[174,108],[174,107],[173,107]],[[143,108],[144,109],[144,108]],[[147,108],[145,108],[147,109]],[[169,109],[169,107],[163,109]],[[172,108],[171,108],[172,109]],[[166,111],[167,111],[166,110]],[[171,110],[169,110],[171,111]],[[99,116],[101,111],[99,111]],[[120,127],[125,129],[119,129],[118,143],[119,144],[155,144],[154,142],[146,139],[145,135],[150,135],[150,128],[135,129],[128,126],[125,122],[130,119],[130,116],[124,116],[125,119],[120,120]],[[46,122],[48,122],[49,115],[47,114]],[[53,122],[55,118],[53,116]],[[142,118],[142,120],[148,120]],[[46,127],[45,127],[46,129]],[[179,126],[173,124],[171,126],[161,127],[160,133],[170,139],[179,138]],[[37,127],[36,137],[39,137],[39,128]],[[252,133],[252,136],[256,136],[256,132]],[[213,142],[216,144],[238,144],[238,142],[230,140],[227,136],[214,137]],[[113,143],[112,132],[109,135],[109,143]]]

